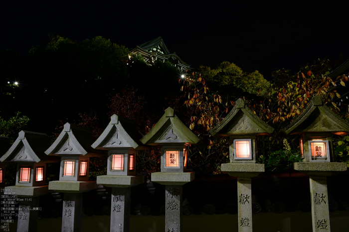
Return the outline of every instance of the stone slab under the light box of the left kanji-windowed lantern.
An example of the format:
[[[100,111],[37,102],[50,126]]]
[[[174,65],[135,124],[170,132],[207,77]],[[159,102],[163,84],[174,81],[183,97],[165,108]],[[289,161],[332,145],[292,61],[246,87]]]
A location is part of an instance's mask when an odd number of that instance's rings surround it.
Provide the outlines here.
[[[152,182],[159,183],[161,185],[184,185],[195,179],[194,172],[185,173],[152,173]]]

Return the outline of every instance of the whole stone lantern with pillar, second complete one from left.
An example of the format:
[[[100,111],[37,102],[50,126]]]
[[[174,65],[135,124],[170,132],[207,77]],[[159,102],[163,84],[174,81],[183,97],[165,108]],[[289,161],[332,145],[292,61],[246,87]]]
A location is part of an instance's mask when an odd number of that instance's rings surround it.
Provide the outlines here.
[[[97,188],[88,181],[90,157],[103,156],[91,148],[93,138],[85,127],[66,123],[54,143],[45,151],[61,157],[59,181],[51,181],[48,189],[63,195],[62,232],[81,232],[82,194]]]

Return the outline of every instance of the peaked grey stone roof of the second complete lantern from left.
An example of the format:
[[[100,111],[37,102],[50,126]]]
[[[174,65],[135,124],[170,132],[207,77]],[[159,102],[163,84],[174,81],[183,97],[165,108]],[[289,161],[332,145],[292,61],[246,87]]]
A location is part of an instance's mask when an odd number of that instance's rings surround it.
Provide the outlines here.
[[[104,152],[93,149],[91,144],[94,139],[90,130],[66,123],[62,132],[54,143],[45,151],[46,155],[84,155],[84,156],[103,156]]]

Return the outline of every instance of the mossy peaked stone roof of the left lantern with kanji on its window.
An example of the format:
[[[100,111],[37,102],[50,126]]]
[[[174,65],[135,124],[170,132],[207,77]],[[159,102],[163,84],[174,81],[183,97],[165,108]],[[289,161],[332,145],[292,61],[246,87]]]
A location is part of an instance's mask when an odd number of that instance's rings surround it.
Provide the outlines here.
[[[157,124],[146,134],[141,142],[146,145],[156,146],[159,144],[197,144],[200,138],[197,137],[169,107]]]

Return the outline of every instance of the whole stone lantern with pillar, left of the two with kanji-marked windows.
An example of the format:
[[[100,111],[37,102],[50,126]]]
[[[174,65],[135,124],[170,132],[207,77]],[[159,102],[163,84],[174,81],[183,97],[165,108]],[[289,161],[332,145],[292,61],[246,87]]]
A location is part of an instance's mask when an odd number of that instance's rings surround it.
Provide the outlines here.
[[[186,172],[187,146],[199,141],[170,107],[141,139],[146,145],[161,145],[161,172],[152,173],[152,181],[166,185],[166,232],[182,231],[182,186],[194,180],[194,173]]]

